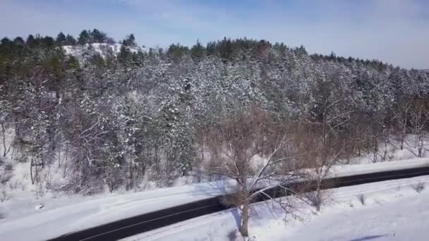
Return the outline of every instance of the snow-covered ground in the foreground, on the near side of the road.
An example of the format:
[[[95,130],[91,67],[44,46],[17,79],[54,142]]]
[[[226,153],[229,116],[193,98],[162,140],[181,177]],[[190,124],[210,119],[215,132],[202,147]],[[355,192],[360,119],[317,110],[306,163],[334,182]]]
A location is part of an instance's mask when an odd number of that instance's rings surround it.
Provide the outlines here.
[[[428,240],[429,192],[419,190],[429,176],[332,190],[320,213],[302,204],[302,220],[274,216],[265,204],[254,205],[249,232],[253,240]],[[276,211],[278,211],[276,213]],[[234,240],[236,211],[222,211],[125,240]],[[235,237],[235,238],[234,238]],[[239,240],[239,239],[238,239]]]

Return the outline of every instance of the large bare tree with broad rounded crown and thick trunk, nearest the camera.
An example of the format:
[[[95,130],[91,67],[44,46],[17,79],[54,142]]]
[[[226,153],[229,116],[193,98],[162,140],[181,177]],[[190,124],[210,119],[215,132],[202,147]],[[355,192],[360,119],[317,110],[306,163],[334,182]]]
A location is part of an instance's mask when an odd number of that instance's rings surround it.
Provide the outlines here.
[[[275,125],[267,113],[253,108],[231,114],[211,130],[210,173],[235,180],[236,193],[225,202],[238,208],[243,237],[248,236],[250,203],[261,195],[277,202],[269,190],[291,192],[287,183],[301,177],[300,162],[293,151],[296,130],[293,125]],[[267,126],[270,126],[268,131]],[[266,149],[257,143],[262,139]],[[269,153],[265,159],[260,158],[262,152]],[[287,203],[278,203],[285,210],[289,208]]]

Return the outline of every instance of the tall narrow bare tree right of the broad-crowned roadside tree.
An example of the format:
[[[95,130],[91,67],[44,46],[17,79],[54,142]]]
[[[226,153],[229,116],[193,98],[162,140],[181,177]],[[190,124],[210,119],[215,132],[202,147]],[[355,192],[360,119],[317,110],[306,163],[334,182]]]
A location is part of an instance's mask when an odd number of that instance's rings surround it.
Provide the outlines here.
[[[314,108],[307,118],[306,133],[302,133],[301,145],[305,152],[306,166],[312,171],[315,192],[310,202],[320,211],[325,197],[322,180],[330,173],[345,150],[345,143],[354,138],[342,138],[342,129],[351,121],[353,110],[344,104],[347,90],[339,85],[342,73],[332,71],[318,78],[313,85]],[[350,141],[349,141],[350,142]],[[303,153],[304,153],[303,152]]]

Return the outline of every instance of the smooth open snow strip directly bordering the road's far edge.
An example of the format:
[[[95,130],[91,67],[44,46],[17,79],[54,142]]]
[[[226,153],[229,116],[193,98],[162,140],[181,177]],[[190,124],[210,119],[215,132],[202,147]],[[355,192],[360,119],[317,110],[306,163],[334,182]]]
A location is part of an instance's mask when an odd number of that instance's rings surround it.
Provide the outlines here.
[[[371,173],[423,165],[429,165],[429,159],[353,165],[338,168],[333,175]],[[72,199],[71,202],[74,204],[56,208],[45,204],[44,209],[37,211],[33,207],[28,216],[0,219],[0,240],[25,240],[28,237],[31,237],[31,240],[45,240],[138,214],[216,197],[229,192],[229,185],[229,183],[225,184],[224,182],[202,183],[133,194],[113,195],[87,201]],[[8,204],[4,203],[3,205]],[[18,206],[4,206],[4,208],[20,209]],[[44,231],[40,232],[40,230]]]

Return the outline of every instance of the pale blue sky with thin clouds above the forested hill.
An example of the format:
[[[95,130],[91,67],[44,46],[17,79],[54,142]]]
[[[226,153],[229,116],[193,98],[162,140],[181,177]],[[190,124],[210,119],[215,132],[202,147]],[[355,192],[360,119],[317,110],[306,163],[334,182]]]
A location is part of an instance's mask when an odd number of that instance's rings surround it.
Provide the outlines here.
[[[0,0],[0,32],[98,28],[116,40],[134,33],[147,47],[248,37],[429,68],[428,10],[425,0]]]

